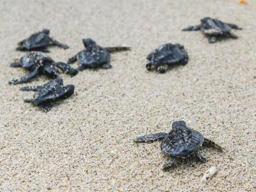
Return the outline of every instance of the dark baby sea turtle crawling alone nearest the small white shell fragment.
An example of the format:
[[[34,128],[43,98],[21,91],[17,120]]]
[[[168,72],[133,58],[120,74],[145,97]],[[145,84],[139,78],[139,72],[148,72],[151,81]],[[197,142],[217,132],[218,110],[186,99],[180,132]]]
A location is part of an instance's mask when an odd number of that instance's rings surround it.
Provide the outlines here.
[[[171,159],[164,164],[163,169],[171,167],[176,159],[187,158],[191,154],[196,156],[198,161],[205,163],[206,159],[198,154],[198,148],[202,145],[213,147],[219,151],[223,150],[218,144],[204,138],[201,133],[186,127],[186,123],[183,121],[174,122],[169,133],[159,132],[137,137],[135,142],[154,142],[157,140],[162,140],[161,151],[171,156]]]

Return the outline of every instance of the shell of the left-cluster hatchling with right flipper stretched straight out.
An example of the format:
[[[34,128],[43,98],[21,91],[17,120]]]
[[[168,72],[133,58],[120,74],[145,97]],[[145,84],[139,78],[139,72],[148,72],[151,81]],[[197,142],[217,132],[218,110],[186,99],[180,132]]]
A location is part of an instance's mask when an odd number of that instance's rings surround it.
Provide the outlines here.
[[[100,46],[91,46],[78,53],[79,64],[86,68],[98,68],[110,61],[110,53]]]

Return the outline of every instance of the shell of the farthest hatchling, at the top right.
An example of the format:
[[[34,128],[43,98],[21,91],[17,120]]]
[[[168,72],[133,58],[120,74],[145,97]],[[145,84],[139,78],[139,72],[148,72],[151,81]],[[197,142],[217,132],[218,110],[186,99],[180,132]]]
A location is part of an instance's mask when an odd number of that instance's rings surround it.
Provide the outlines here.
[[[223,36],[229,33],[232,28],[218,19],[206,17],[201,19],[201,30],[206,35]]]

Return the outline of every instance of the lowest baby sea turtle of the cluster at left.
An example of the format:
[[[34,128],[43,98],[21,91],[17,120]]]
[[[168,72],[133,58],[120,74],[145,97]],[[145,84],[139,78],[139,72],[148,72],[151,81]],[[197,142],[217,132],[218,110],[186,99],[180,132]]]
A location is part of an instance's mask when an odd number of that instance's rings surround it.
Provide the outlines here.
[[[50,82],[47,82],[45,85],[22,87],[21,90],[35,91],[33,99],[24,100],[24,102],[31,102],[33,105],[48,112],[51,107],[53,107],[54,102],[57,100],[64,100],[73,95],[75,86],[63,86],[63,79],[56,78],[55,80],[50,80]]]

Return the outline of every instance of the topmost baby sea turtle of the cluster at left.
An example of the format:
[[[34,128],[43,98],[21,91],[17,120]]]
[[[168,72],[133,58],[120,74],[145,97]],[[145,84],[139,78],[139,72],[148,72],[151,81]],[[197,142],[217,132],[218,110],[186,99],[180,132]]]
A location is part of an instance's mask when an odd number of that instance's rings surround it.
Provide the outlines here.
[[[28,38],[18,43],[18,47],[16,50],[37,50],[48,52],[48,46],[58,46],[60,48],[67,49],[69,48],[67,45],[60,43],[53,38],[50,38],[50,30],[43,29],[38,33],[34,33]]]

